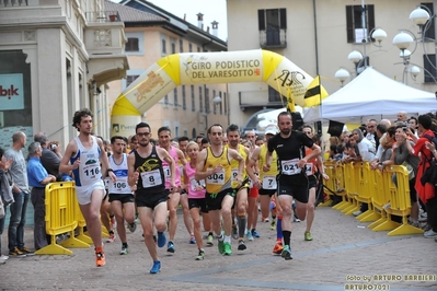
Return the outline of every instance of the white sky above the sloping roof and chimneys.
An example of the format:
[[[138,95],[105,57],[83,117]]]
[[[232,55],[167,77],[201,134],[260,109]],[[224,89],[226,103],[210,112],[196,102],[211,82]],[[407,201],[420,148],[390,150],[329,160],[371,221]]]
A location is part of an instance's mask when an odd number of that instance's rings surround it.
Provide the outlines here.
[[[112,0],[119,2],[120,0]],[[226,15],[226,0],[148,0],[154,5],[169,11],[180,19],[197,26],[197,13],[204,14],[204,30],[209,26],[212,34],[212,21],[218,24],[218,37],[222,40],[228,38],[228,24]]]

